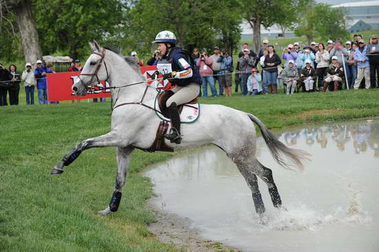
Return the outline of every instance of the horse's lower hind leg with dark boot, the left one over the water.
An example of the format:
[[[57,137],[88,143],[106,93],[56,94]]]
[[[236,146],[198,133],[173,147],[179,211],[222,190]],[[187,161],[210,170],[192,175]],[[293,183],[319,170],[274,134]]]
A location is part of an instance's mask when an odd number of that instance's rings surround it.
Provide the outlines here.
[[[237,167],[240,170],[240,173],[243,175],[243,178],[245,178],[250,190],[252,191],[252,198],[254,201],[256,213],[258,213],[259,215],[265,213],[265,204],[263,203],[262,195],[259,191],[258,179],[256,178],[256,175],[253,174],[252,171],[249,171],[249,169],[243,167],[242,165],[237,165]]]

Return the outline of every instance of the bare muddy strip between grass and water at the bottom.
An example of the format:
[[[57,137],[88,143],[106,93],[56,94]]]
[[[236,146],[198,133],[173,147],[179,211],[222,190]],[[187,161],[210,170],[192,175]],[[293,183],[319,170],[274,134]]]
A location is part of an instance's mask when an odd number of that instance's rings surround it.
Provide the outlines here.
[[[153,206],[153,200],[148,201],[150,209],[155,213],[155,220],[147,228],[156,235],[160,242],[170,244],[183,251],[211,252],[211,251],[241,251],[240,249],[226,246],[221,242],[204,240],[199,235],[199,230],[192,228],[191,220],[167,213]]]

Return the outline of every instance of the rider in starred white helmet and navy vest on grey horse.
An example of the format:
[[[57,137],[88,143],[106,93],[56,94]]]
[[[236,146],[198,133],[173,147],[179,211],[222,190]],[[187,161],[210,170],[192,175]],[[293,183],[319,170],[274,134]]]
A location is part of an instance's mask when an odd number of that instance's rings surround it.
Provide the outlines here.
[[[183,50],[177,48],[176,36],[170,31],[159,32],[152,43],[158,43],[158,50],[162,59],[158,61],[158,70],[165,69],[163,79],[170,79],[172,85],[176,85],[171,91],[174,92],[166,102],[172,127],[170,134],[165,138],[171,143],[181,143],[181,118],[177,105],[189,103],[196,98],[200,92],[200,75],[196,70],[192,57]],[[161,66],[160,66],[161,65]]]

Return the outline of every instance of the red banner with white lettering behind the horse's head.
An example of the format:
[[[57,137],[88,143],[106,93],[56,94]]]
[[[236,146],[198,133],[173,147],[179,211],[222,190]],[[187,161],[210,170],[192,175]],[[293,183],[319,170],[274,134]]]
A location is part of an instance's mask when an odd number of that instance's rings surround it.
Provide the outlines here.
[[[155,66],[141,67],[141,73],[147,79],[151,79],[156,72]],[[70,101],[78,99],[92,99],[92,98],[106,98],[110,97],[110,90],[97,90],[96,85],[94,85],[94,90],[92,94],[87,94],[86,96],[76,96],[73,94],[71,87],[75,82],[80,72],[59,72],[54,74],[48,74],[48,101]],[[125,83],[126,84],[126,83]],[[152,81],[147,82],[148,85],[152,84]],[[101,85],[108,87],[108,83],[102,82]],[[143,85],[143,84],[141,84]]]

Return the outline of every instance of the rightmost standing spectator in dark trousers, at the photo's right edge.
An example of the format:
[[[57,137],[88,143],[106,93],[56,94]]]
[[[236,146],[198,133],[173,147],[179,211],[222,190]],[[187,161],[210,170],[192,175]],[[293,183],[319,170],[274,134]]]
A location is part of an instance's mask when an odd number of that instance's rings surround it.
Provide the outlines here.
[[[367,53],[369,55],[371,88],[379,87],[379,43],[377,35],[371,36]]]

